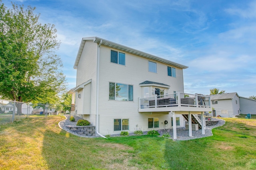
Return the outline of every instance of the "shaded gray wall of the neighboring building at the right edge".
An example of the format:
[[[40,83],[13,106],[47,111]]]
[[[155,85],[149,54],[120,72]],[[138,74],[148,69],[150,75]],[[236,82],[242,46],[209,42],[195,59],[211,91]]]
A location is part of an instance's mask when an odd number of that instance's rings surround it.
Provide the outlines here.
[[[239,102],[242,114],[256,114],[256,100],[239,97]]]

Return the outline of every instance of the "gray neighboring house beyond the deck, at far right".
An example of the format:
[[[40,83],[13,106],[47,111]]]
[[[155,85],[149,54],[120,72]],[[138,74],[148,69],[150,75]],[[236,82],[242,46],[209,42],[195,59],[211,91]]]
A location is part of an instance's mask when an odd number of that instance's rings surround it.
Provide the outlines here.
[[[211,95],[212,116],[234,117],[239,114],[256,114],[256,100],[241,97],[238,93]]]

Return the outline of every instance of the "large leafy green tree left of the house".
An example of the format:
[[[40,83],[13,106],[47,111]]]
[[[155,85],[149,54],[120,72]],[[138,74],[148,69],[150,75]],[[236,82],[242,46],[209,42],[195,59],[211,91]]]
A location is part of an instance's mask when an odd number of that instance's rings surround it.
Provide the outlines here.
[[[20,102],[54,102],[66,90],[62,61],[55,54],[60,42],[54,25],[38,22],[28,6],[0,0],[0,95]],[[21,105],[16,104],[17,113]]]

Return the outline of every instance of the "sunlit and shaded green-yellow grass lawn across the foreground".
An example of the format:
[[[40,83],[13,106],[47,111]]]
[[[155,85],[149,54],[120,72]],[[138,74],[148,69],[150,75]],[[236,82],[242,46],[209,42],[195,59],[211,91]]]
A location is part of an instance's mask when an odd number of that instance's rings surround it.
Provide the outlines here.
[[[0,125],[0,169],[256,169],[256,120],[224,119],[214,136],[173,141],[154,136],[80,138],[61,116]]]

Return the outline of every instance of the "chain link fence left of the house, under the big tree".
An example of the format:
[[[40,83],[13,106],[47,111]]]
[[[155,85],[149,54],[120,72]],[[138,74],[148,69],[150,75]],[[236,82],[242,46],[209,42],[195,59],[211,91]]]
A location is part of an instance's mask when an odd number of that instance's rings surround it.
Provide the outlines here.
[[[64,115],[74,112],[74,105],[32,104],[0,99],[0,125],[13,123],[25,118],[39,118]]]

